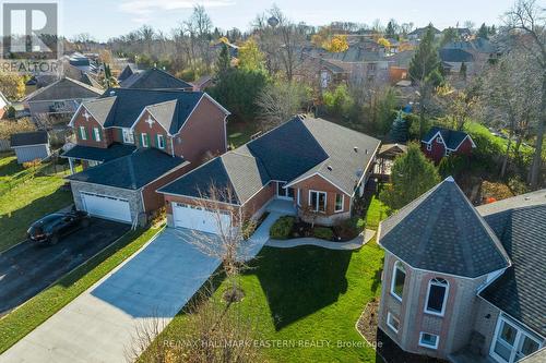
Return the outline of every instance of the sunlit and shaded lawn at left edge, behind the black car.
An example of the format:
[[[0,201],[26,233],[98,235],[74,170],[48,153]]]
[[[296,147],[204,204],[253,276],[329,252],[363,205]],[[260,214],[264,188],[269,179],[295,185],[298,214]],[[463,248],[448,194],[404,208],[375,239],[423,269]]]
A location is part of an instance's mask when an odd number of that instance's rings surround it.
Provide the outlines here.
[[[72,195],[60,190],[64,172],[44,176],[39,167],[33,178],[12,154],[0,155],[0,251],[25,239],[28,226],[48,213],[72,203]]]

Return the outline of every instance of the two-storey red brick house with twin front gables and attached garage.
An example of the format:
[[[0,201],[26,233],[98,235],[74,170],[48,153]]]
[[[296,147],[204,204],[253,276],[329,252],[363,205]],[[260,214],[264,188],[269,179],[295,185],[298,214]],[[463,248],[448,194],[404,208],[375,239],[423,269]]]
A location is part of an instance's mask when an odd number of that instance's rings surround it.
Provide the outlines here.
[[[83,102],[70,125],[76,145],[62,157],[75,207],[142,223],[164,204],[156,190],[226,152],[229,112],[200,92],[110,88]]]

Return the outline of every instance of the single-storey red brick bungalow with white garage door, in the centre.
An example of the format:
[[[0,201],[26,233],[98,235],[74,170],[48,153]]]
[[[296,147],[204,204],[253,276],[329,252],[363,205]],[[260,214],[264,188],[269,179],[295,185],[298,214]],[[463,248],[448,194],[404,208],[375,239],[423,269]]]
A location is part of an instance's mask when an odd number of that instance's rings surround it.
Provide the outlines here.
[[[351,217],[379,144],[322,119],[294,117],[159,189],[168,226],[215,232],[214,211],[199,208],[206,204],[211,185],[233,192],[221,193],[232,199],[219,202],[238,209],[244,219],[259,218],[266,209],[287,215],[310,209],[317,223],[334,225]]]

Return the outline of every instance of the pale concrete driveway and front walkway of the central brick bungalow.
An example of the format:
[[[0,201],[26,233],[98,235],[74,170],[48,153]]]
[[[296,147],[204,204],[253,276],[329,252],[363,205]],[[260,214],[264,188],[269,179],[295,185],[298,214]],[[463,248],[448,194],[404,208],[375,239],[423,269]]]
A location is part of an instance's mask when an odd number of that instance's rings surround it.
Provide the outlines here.
[[[271,214],[245,243],[252,258],[278,218]],[[127,362],[135,329],[152,317],[165,325],[221,262],[188,239],[191,230],[167,228],[133,257],[0,355],[3,362]]]

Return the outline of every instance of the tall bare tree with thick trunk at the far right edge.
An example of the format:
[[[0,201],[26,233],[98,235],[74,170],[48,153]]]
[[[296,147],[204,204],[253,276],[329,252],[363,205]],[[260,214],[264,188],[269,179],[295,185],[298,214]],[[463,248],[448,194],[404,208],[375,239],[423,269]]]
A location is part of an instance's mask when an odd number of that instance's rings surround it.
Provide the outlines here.
[[[542,81],[541,86],[541,111],[536,126],[535,154],[529,173],[531,189],[539,187],[539,176],[542,172],[542,152],[544,144],[544,129],[546,128],[546,9],[536,4],[535,0],[518,0],[515,7],[506,16],[507,25],[529,37],[522,39],[521,45],[532,55],[533,62],[541,70],[537,77]]]

